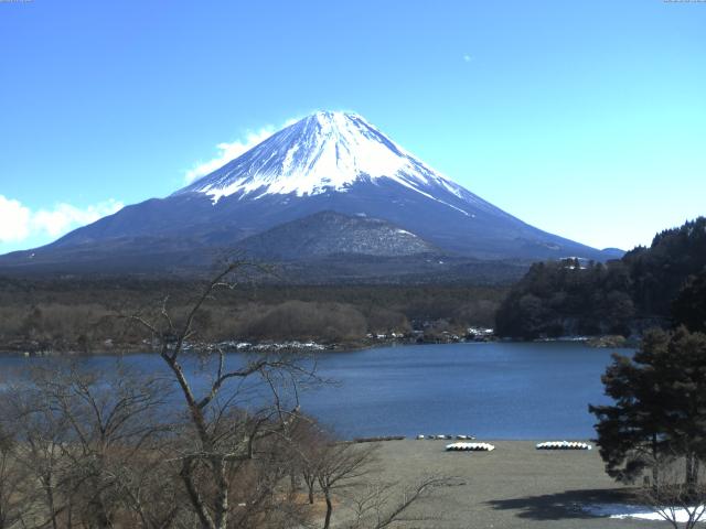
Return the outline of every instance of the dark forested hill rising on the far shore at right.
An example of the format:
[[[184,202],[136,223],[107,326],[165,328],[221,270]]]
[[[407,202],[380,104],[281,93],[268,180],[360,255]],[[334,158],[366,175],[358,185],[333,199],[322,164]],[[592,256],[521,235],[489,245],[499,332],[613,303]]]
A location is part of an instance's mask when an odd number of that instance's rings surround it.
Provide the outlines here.
[[[657,234],[620,260],[539,262],[510,291],[496,333],[516,338],[640,334],[706,321],[706,218]]]

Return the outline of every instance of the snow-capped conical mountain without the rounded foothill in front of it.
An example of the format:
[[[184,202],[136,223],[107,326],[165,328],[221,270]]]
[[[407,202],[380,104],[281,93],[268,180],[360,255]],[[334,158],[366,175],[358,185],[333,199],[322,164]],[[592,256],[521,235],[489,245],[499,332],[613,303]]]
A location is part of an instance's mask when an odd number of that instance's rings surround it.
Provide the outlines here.
[[[113,256],[116,264],[122,256],[153,255],[154,240],[164,253],[192,247],[205,256],[327,210],[374,217],[441,251],[474,259],[619,257],[523,223],[357,115],[317,112],[165,198],[125,207],[51,245],[0,258],[0,266],[85,262],[92,253]],[[334,250],[335,241],[329,241]]]

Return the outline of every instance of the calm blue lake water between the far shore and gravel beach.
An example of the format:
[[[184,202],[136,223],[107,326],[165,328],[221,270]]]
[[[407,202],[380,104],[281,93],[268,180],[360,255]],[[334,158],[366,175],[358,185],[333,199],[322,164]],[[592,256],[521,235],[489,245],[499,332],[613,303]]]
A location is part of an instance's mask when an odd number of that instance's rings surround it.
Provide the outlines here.
[[[578,343],[410,345],[318,355],[335,380],[301,395],[303,411],[346,438],[473,434],[484,439],[587,439],[588,403],[608,402],[600,376],[610,349]],[[629,350],[623,350],[628,354]],[[0,357],[0,369],[31,360]],[[41,360],[40,360],[41,361]],[[111,357],[81,360],[109,367]],[[124,361],[163,370],[154,355]],[[232,360],[243,361],[242,355]]]

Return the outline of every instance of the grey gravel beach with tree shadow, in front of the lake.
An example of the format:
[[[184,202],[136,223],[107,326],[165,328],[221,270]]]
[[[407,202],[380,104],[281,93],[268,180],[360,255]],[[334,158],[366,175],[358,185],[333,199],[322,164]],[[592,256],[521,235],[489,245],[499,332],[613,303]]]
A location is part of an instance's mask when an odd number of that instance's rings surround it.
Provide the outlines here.
[[[546,441],[546,440],[543,440]],[[581,440],[586,441],[586,440]],[[489,441],[492,452],[446,452],[451,441],[381,443],[385,481],[411,485],[429,475],[458,477],[417,503],[396,527],[405,528],[637,528],[664,521],[590,516],[585,506],[619,504],[628,489],[603,472],[591,451],[539,451],[537,441]]]

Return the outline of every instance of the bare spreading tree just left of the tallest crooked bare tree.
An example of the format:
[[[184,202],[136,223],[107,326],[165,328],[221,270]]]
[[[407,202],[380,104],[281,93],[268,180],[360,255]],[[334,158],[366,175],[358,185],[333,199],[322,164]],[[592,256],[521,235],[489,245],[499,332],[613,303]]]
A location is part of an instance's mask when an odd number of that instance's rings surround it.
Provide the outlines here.
[[[35,384],[68,423],[71,442],[63,446],[63,455],[71,462],[82,519],[98,528],[111,527],[128,498],[140,512],[140,503],[129,494],[133,492],[129,471],[170,428],[157,419],[167,386],[120,366],[110,374],[72,368]]]

